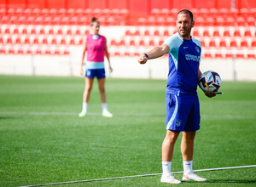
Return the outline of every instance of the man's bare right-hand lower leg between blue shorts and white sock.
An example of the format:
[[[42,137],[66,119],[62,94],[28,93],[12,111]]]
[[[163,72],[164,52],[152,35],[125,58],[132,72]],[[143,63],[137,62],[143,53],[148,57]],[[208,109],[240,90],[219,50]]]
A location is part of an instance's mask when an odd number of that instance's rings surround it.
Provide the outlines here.
[[[183,138],[181,142],[181,152],[183,155],[183,161],[193,160],[195,133],[196,132],[183,132]]]

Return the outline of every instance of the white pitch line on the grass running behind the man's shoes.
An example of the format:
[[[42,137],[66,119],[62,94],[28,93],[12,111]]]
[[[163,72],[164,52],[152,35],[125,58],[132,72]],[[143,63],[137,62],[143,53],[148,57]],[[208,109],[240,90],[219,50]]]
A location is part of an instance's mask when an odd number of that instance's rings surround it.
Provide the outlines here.
[[[240,167],[218,167],[218,168],[209,168],[209,169],[198,169],[198,170],[194,170],[194,172],[206,172],[206,171],[216,171],[216,170],[224,170],[224,169],[237,169],[237,168],[247,168],[247,167],[256,167],[256,165],[240,166]],[[183,171],[182,172],[173,172],[173,173],[183,173]],[[101,180],[113,180],[113,179],[120,179],[120,178],[148,177],[148,176],[154,176],[154,175],[160,175],[160,174],[162,174],[162,173],[133,175],[133,176],[115,177],[115,178],[96,178],[96,179],[89,179],[89,180],[78,180],[78,181],[70,181],[70,182],[62,182],[62,183],[51,183],[51,184],[35,184],[35,185],[26,185],[26,186],[20,186],[20,187],[34,187],[34,186],[46,186],[46,185],[57,185],[57,184],[85,183],[85,182],[93,182],[93,181],[101,181]]]

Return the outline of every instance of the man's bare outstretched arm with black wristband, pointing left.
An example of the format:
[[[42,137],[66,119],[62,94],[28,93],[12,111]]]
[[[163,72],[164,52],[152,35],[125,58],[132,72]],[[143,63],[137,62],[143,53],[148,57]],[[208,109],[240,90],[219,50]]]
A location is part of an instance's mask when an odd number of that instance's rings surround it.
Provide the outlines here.
[[[159,58],[159,57],[163,56],[164,54],[167,54],[168,52],[169,52],[169,46],[166,44],[163,44],[161,46],[153,48],[147,54],[140,55],[139,58],[137,59],[137,61],[140,64],[145,64],[148,61],[148,59]]]

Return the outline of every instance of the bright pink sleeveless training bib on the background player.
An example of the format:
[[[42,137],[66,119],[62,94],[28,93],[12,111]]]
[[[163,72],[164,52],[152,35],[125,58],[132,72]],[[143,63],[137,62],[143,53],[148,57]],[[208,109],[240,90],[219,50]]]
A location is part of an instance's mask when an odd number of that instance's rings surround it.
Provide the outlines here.
[[[103,62],[105,54],[105,37],[99,35],[99,38],[93,39],[92,34],[87,36],[87,60],[90,62]]]

